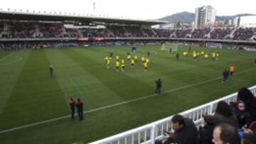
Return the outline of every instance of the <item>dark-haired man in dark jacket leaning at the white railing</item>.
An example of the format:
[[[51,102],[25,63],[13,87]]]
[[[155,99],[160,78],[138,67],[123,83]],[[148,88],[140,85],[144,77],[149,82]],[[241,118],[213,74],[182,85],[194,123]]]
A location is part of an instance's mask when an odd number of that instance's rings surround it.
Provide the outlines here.
[[[166,134],[168,138],[164,144],[198,144],[198,131],[191,119],[177,114],[171,118],[171,122],[173,123],[174,133]]]

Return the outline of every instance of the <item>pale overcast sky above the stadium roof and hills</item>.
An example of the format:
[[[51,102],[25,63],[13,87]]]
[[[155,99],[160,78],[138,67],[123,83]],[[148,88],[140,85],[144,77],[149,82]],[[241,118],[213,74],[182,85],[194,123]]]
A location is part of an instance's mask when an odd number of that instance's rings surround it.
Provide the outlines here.
[[[95,1],[95,11],[93,3]],[[155,19],[211,5],[217,15],[256,13],[256,0],[1,0],[0,9],[95,13],[101,16]]]

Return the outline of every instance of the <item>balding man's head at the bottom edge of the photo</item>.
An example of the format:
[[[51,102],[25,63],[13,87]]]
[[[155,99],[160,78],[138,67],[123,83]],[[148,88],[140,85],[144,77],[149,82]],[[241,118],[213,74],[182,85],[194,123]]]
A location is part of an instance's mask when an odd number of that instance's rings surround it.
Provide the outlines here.
[[[240,144],[238,131],[227,123],[216,126],[213,131],[214,144]]]

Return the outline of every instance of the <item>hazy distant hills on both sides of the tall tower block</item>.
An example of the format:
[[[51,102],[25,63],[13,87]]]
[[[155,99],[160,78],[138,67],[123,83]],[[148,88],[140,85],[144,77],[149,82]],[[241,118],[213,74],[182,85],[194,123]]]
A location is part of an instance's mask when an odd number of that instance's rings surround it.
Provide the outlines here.
[[[235,18],[236,16],[255,16],[255,14],[251,13],[242,13],[237,14],[235,16],[216,16],[216,21],[224,21],[230,18]],[[164,18],[159,18],[161,21],[169,21],[170,23],[177,23],[180,21],[181,23],[192,23],[195,20],[195,13],[189,13],[187,11],[183,11],[181,13],[174,13],[171,16],[165,16]]]

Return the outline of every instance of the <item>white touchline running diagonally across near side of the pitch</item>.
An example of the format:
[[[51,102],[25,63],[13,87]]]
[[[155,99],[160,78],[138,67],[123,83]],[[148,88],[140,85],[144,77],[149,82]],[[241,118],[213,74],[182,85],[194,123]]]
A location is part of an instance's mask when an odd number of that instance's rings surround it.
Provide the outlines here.
[[[238,72],[238,73],[236,73],[234,75],[242,74],[242,73],[245,73],[245,72],[248,72],[248,71],[251,71],[251,70],[255,70],[255,68],[252,68],[252,69],[249,69],[249,70],[244,70],[244,71]],[[206,81],[198,82],[196,84],[189,84],[189,85],[186,85],[186,86],[183,86],[183,87],[178,87],[178,88],[175,88],[175,89],[169,89],[169,90],[166,90],[166,91],[162,92],[161,94],[166,94],[166,93],[174,92],[174,91],[177,91],[177,90],[180,90],[180,89],[186,89],[188,87],[193,87],[193,86],[197,86],[197,85],[200,85],[200,84],[205,84],[206,82],[215,81],[215,80],[221,79],[221,78],[222,77],[216,77],[214,79],[208,79]],[[92,112],[95,112],[95,111],[100,111],[102,109],[108,109],[108,108],[112,108],[114,106],[120,106],[122,104],[128,104],[128,103],[131,103],[131,102],[134,102],[134,101],[139,101],[139,100],[142,100],[142,99],[148,99],[148,98],[151,98],[151,97],[154,97],[154,96],[157,96],[157,94],[151,94],[149,96],[144,96],[144,97],[137,98],[137,99],[132,99],[132,100],[129,100],[129,101],[123,101],[123,102],[120,102],[120,103],[117,103],[117,104],[112,104],[112,105],[109,105],[109,106],[103,106],[103,107],[100,107],[100,108],[97,108],[97,109],[92,109],[92,110],[89,110],[89,111],[84,111],[84,113],[92,113]],[[31,126],[37,126],[37,125],[40,125],[40,124],[43,124],[43,123],[49,123],[49,122],[52,122],[52,121],[58,121],[58,120],[64,119],[64,118],[70,118],[70,115],[61,116],[61,117],[49,119],[49,120],[46,120],[46,121],[40,121],[38,123],[31,123],[31,124],[28,124],[28,125],[25,125],[25,126],[18,126],[16,128],[6,129],[4,131],[0,131],[0,133],[7,133],[7,132],[10,132],[10,131],[19,130],[19,129],[22,129],[22,128],[28,128],[28,127],[31,127]]]

